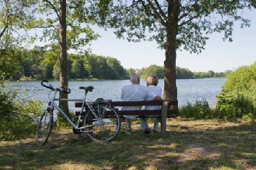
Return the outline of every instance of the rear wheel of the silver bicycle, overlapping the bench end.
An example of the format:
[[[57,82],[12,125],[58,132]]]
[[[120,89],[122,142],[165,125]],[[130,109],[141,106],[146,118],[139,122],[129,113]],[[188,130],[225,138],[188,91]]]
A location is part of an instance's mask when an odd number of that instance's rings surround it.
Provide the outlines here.
[[[88,110],[83,117],[83,126],[89,126],[85,128],[87,135],[100,142],[114,139],[121,129],[121,118],[116,108],[97,104],[93,106],[93,110],[96,116]]]

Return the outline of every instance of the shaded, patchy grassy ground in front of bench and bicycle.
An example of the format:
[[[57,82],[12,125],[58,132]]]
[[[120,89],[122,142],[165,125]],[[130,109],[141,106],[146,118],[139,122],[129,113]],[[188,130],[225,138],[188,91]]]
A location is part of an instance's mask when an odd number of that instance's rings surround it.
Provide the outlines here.
[[[152,122],[150,126],[152,127]],[[78,139],[72,129],[35,139],[0,141],[0,170],[256,170],[256,122],[167,121],[166,135],[143,134],[133,122],[104,143]]]

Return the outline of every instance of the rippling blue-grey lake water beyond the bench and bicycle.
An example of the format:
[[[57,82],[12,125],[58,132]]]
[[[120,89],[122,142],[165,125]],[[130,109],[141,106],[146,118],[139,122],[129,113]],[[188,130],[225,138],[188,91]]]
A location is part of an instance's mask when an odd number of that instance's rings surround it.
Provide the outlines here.
[[[215,96],[221,91],[221,85],[223,85],[226,79],[177,79],[177,99],[178,105],[186,105],[187,101],[194,103],[195,100],[202,100],[205,98],[209,105],[213,108],[215,106]],[[59,87],[59,81],[50,81],[53,87]],[[80,90],[80,86],[93,86],[95,89],[93,92],[89,92],[87,99],[96,100],[97,98],[112,99],[112,101],[120,100],[121,89],[124,85],[130,84],[129,80],[102,80],[102,81],[69,81],[68,86],[71,89],[69,98],[82,98],[84,96],[84,90]],[[144,79],[141,79],[141,85],[146,86]],[[42,100],[47,106],[48,92],[41,85],[41,81],[20,81],[10,82],[12,88],[24,90],[29,94],[29,97]],[[164,80],[159,80],[159,85],[164,90]],[[163,94],[162,96],[163,97]],[[69,106],[72,108],[73,105]]]

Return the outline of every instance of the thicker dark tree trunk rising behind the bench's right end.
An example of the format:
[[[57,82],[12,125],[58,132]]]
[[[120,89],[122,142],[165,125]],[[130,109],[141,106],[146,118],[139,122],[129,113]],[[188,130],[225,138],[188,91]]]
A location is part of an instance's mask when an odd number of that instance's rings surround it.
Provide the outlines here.
[[[176,35],[179,15],[179,0],[168,1],[166,49],[164,61],[164,100],[177,100],[176,87]]]

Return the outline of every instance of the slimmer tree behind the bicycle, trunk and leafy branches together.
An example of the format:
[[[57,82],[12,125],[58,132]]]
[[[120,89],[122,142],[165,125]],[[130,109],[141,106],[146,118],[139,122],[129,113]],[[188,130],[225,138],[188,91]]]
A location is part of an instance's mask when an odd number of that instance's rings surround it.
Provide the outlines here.
[[[33,10],[46,18],[39,18],[31,27],[44,29],[43,36],[39,37],[48,49],[47,58],[43,63],[55,64],[59,53],[60,87],[68,87],[67,50],[84,52],[82,47],[98,37],[88,26],[91,21],[81,19],[86,18],[85,11],[84,0],[40,0],[38,7]],[[60,98],[68,96],[66,93],[60,93]],[[60,102],[60,107],[64,108],[65,113],[69,112],[67,101]]]

